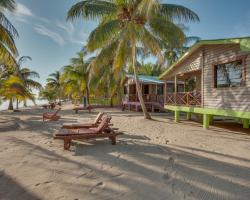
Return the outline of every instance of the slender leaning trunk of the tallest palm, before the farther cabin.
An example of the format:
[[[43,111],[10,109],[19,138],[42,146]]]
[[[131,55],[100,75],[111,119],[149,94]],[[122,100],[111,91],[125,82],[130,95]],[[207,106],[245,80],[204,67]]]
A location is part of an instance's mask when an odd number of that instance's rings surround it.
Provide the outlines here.
[[[134,78],[135,78],[136,90],[137,90],[137,94],[138,94],[138,97],[139,97],[141,108],[142,108],[142,111],[143,111],[143,114],[144,114],[144,118],[145,119],[151,119],[151,116],[149,115],[149,113],[147,111],[147,108],[146,108],[145,103],[144,103],[144,99],[142,97],[141,86],[140,86],[139,78],[138,78],[138,75],[137,75],[138,70],[137,70],[137,66],[136,66],[136,46],[135,46],[135,43],[133,44],[133,47],[132,47],[132,66],[133,66],[133,69],[134,69]]]

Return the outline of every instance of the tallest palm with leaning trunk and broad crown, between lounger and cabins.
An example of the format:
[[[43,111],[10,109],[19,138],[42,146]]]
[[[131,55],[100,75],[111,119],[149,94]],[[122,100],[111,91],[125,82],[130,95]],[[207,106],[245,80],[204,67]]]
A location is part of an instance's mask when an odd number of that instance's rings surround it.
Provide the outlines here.
[[[160,4],[157,0],[85,0],[68,11],[68,19],[79,17],[99,20],[87,44],[90,52],[99,50],[96,64],[108,66],[112,61],[114,71],[119,73],[127,63],[132,63],[144,117],[151,119],[137,75],[137,48],[147,48],[163,62],[162,41],[171,44],[185,40],[182,29],[174,22],[198,21],[198,16],[183,6]]]

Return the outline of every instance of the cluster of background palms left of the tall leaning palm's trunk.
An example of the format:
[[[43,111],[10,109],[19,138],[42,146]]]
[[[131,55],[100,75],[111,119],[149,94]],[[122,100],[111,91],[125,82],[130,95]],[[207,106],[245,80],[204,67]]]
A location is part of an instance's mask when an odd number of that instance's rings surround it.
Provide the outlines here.
[[[78,52],[69,65],[49,75],[40,97],[48,101],[69,99],[75,103],[82,102],[86,97],[89,106],[113,106],[121,102],[125,72],[117,79],[111,66],[94,65],[94,60],[95,57],[88,55],[85,50]]]

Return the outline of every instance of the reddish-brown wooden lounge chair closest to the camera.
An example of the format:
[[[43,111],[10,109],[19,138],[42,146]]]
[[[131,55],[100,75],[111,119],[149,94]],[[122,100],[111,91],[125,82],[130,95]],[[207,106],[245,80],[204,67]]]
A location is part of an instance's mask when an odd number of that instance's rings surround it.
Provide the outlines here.
[[[69,150],[72,140],[88,140],[92,138],[109,138],[112,145],[116,144],[116,136],[121,135],[120,132],[107,130],[110,122],[110,117],[104,117],[102,122],[96,128],[82,128],[82,129],[61,129],[55,135],[54,139],[61,139],[64,141],[64,150]]]

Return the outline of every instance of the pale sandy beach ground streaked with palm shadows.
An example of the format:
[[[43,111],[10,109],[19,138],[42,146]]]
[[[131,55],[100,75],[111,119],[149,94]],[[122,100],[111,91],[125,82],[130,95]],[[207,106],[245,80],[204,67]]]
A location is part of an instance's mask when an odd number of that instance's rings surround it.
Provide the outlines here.
[[[91,121],[64,106],[62,119],[43,122],[41,108],[0,112],[1,200],[248,200],[250,131],[215,123],[177,124],[167,113],[104,110],[124,132],[108,140],[76,142],[63,150],[53,133],[63,123]]]

